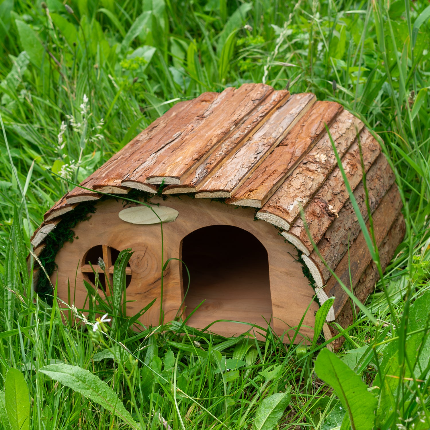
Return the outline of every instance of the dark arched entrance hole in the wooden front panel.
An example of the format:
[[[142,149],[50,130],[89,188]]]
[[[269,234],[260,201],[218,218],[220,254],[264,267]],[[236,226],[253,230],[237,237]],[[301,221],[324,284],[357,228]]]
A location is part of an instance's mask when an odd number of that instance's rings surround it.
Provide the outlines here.
[[[181,259],[190,271],[185,297],[190,326],[204,328],[218,319],[267,327],[272,314],[267,251],[251,233],[230,225],[212,225],[182,240]],[[182,267],[184,294],[188,276]],[[247,326],[218,322],[211,330],[221,335],[245,332]]]

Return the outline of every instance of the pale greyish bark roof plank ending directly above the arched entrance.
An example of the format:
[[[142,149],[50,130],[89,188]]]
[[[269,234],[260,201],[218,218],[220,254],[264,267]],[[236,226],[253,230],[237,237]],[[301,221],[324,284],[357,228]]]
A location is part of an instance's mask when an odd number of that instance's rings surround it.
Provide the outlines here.
[[[198,187],[196,197],[230,197],[315,102],[310,93],[292,95],[264,125]]]

